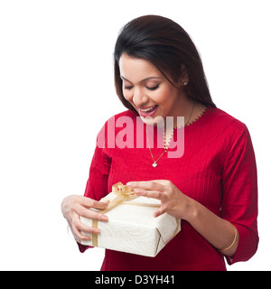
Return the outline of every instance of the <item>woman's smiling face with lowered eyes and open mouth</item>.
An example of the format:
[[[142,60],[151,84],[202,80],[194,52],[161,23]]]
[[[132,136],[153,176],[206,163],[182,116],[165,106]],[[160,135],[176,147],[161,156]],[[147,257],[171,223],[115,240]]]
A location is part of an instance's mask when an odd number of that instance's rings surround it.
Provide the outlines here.
[[[123,95],[145,123],[154,124],[154,117],[180,116],[182,89],[174,87],[151,62],[122,54],[119,70]]]

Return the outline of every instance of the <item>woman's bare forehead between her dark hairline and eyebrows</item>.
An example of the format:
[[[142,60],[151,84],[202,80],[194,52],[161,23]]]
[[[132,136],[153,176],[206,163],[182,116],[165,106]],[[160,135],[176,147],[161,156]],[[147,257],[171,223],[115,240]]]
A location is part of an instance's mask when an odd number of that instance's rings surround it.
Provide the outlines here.
[[[131,82],[150,77],[163,78],[162,73],[150,61],[123,54],[119,59],[120,76]]]

